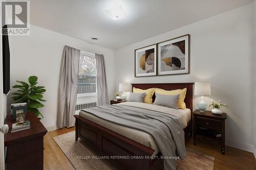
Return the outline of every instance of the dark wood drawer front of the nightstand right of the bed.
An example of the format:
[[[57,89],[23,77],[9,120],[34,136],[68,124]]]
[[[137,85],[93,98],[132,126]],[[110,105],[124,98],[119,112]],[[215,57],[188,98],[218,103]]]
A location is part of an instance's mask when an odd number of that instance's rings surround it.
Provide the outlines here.
[[[197,116],[197,126],[221,131],[221,121]]]

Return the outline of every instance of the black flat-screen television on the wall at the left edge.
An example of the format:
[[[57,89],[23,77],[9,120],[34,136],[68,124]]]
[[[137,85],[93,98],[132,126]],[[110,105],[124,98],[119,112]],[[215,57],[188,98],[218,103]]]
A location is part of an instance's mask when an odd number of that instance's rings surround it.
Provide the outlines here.
[[[4,30],[7,30],[5,25],[2,28],[2,33]],[[7,31],[5,31],[7,33]],[[8,94],[10,91],[10,49],[9,49],[9,39],[8,34],[2,35],[2,44],[3,44],[3,89],[4,93]]]

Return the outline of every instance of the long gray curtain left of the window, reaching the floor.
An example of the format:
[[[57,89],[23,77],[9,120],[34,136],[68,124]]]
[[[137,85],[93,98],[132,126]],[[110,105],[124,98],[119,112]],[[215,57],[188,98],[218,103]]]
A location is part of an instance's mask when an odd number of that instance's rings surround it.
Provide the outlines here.
[[[80,50],[65,45],[60,67],[57,127],[75,125],[77,78]]]

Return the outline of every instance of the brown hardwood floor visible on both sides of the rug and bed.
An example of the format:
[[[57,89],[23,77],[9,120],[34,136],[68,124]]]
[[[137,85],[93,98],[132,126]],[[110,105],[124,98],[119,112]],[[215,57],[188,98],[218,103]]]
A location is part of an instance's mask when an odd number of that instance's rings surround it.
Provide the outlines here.
[[[62,153],[52,137],[74,131],[75,128],[63,128],[48,132],[44,137],[44,169],[74,169],[68,158]],[[214,169],[256,169],[256,160],[250,152],[226,146],[225,155],[221,155],[221,147],[214,141],[205,140],[199,137],[197,145],[193,145],[193,138],[190,137],[186,147],[214,156]]]

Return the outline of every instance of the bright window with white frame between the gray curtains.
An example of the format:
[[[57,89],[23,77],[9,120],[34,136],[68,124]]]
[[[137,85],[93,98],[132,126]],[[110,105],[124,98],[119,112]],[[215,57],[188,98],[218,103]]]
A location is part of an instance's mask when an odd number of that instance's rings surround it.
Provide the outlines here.
[[[97,95],[95,55],[81,52],[78,70],[78,96]]]

